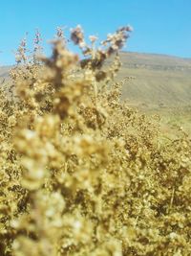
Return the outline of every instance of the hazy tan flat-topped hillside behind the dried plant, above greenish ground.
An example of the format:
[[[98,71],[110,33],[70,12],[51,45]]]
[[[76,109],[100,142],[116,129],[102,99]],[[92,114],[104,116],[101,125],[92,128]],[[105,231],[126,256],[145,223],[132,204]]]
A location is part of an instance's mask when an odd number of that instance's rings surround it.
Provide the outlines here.
[[[138,107],[184,107],[191,103],[191,58],[121,52],[117,80],[135,77],[123,87],[122,98]],[[10,66],[0,67],[0,78]]]

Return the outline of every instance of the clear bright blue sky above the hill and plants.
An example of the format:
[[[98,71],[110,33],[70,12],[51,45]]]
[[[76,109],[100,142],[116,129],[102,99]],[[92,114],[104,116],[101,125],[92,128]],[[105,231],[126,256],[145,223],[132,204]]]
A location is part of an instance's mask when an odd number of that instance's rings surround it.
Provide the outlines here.
[[[87,35],[104,35],[130,24],[127,51],[191,58],[191,0],[1,0],[0,65],[39,28],[51,39],[57,26],[81,24]]]

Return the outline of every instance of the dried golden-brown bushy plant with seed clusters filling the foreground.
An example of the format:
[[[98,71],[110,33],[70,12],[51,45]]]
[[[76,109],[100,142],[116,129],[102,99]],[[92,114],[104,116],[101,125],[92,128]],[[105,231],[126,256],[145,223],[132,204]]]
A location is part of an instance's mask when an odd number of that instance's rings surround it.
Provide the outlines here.
[[[51,58],[19,47],[13,96],[0,91],[0,255],[191,255],[191,140],[166,142],[157,117],[120,100],[131,30],[96,48],[77,26],[82,59],[60,28]]]

